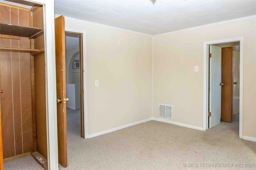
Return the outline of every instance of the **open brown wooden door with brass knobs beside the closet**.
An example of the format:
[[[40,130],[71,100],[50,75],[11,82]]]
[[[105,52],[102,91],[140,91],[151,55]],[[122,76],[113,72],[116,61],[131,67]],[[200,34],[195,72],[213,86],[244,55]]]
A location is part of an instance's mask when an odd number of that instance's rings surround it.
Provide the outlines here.
[[[65,70],[65,23],[64,16],[55,19],[55,53],[57,86],[57,126],[59,164],[67,163],[67,123],[66,123],[66,70]]]

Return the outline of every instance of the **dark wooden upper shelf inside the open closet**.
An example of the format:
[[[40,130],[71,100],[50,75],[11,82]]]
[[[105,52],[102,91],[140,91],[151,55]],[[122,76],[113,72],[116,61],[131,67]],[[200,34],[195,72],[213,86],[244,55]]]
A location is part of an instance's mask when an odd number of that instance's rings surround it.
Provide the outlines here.
[[[43,29],[40,28],[0,23],[0,33],[5,35],[36,38],[44,32]]]

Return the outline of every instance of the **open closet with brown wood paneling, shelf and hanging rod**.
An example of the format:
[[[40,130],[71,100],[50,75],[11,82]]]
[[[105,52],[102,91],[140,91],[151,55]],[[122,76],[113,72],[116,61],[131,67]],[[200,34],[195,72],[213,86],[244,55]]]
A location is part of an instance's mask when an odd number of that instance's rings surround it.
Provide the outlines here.
[[[2,156],[7,162],[31,154],[47,169],[43,9],[24,3],[32,7],[0,3]]]

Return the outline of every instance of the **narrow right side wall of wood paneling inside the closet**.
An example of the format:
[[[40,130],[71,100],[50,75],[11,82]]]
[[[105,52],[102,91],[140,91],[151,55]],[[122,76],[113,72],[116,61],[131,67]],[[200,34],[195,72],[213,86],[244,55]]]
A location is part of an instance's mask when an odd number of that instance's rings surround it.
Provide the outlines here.
[[[34,11],[33,26],[43,28],[42,7]],[[35,49],[44,48],[44,35],[34,40]],[[34,55],[37,151],[47,159],[45,54]]]

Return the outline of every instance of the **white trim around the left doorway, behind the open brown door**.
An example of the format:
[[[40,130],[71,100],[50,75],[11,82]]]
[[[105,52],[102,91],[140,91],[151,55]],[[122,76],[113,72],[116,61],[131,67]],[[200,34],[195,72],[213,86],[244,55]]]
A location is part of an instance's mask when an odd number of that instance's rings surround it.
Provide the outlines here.
[[[66,19],[66,17],[64,17]],[[82,29],[73,29],[66,27],[65,31],[74,32],[74,33],[82,33],[83,34],[83,68],[85,70],[84,76],[84,138],[88,138],[88,110],[87,110],[87,68],[86,68],[86,31]]]

